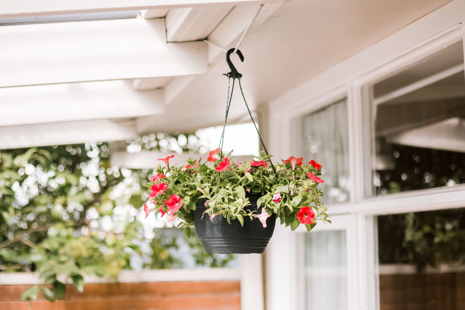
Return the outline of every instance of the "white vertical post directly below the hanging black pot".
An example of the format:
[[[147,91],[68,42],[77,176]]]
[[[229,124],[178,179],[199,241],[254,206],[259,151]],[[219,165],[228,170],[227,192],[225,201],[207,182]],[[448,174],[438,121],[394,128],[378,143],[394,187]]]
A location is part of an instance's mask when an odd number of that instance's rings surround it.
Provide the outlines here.
[[[261,254],[241,254],[240,273],[240,309],[264,310]]]

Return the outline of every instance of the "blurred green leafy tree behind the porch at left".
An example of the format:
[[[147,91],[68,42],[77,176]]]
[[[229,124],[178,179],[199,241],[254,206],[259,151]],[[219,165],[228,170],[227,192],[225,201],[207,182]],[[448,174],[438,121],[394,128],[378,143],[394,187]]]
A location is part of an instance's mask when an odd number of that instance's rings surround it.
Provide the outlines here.
[[[134,141],[157,141],[146,146],[159,150],[169,139],[174,148],[172,136],[154,136]],[[184,137],[186,147],[199,149]],[[25,290],[21,300],[40,292],[47,300],[61,299],[68,281],[82,291],[84,275],[116,277],[131,268],[133,257],[143,257],[150,268],[185,265],[172,253],[179,249],[178,235],[146,237],[138,220],[152,171],[111,166],[110,154],[108,143],[0,152],[0,271],[37,271],[44,284]],[[196,237],[182,238],[195,244]],[[142,251],[144,244],[149,251]],[[232,259],[191,247],[197,265],[225,266]]]

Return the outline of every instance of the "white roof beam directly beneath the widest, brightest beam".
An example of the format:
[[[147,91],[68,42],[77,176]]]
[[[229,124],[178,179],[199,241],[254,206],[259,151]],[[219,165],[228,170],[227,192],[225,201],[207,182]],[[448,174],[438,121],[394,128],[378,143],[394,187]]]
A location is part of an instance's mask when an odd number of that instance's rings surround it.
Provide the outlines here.
[[[0,88],[0,126],[128,118],[165,111],[163,91],[134,91],[128,81]]]

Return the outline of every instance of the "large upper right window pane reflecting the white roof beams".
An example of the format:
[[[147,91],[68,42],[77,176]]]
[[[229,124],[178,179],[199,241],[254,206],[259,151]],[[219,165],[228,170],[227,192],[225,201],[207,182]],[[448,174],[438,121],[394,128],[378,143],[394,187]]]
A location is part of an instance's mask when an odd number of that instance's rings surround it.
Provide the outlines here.
[[[462,41],[373,86],[373,193],[465,183]]]

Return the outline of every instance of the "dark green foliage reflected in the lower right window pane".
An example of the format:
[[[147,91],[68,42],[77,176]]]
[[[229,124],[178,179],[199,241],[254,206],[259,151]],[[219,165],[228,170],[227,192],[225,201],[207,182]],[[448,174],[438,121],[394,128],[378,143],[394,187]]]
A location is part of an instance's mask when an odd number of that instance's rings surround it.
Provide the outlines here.
[[[380,216],[381,264],[425,266],[465,263],[465,209]]]

